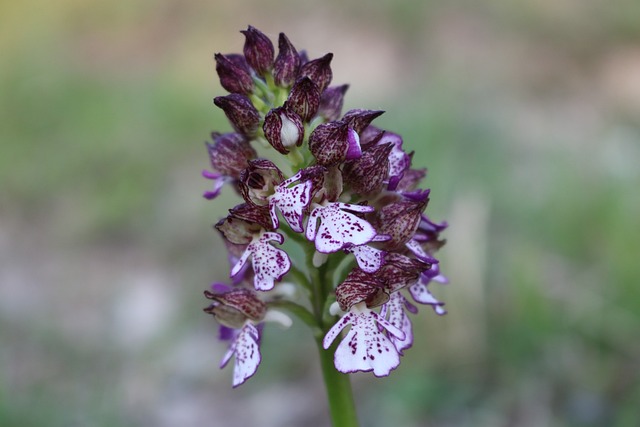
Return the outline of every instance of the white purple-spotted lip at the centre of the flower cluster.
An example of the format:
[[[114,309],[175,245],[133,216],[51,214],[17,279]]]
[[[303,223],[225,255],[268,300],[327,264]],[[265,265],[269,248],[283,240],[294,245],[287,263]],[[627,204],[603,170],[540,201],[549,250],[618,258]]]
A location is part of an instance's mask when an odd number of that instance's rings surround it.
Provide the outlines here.
[[[316,250],[322,253],[339,251],[348,244],[364,245],[376,236],[376,230],[362,218],[344,212],[372,212],[371,206],[348,203],[329,203],[315,208],[307,223],[307,240],[315,241]],[[317,220],[320,218],[320,227]]]

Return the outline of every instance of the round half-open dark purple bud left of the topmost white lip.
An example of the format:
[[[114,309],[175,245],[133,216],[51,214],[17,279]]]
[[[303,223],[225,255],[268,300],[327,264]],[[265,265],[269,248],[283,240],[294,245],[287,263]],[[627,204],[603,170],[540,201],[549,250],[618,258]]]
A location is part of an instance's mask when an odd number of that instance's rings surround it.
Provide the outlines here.
[[[266,206],[268,197],[284,180],[280,169],[270,160],[250,160],[249,166],[240,174],[240,193],[247,203]]]

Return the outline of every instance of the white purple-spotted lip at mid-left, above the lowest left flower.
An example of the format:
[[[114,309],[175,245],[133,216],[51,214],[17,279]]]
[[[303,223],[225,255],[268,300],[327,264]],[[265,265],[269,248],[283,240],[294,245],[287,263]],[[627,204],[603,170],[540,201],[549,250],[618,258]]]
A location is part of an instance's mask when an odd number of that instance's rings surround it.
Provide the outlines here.
[[[284,242],[284,237],[279,233],[262,233],[259,238],[254,239],[245,250],[238,263],[231,269],[231,277],[238,274],[246,264],[249,257],[252,258],[253,285],[256,290],[268,291],[273,289],[275,281],[282,279],[291,268],[291,260],[285,251],[269,244],[276,241],[279,244]]]

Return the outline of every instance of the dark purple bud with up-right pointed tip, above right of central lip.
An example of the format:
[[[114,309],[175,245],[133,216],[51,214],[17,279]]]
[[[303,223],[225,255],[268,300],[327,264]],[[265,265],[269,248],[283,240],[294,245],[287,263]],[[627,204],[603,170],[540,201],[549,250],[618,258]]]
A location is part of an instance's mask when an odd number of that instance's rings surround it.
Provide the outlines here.
[[[353,192],[369,194],[382,189],[389,175],[389,153],[393,144],[376,145],[362,153],[359,159],[346,162],[342,177]]]

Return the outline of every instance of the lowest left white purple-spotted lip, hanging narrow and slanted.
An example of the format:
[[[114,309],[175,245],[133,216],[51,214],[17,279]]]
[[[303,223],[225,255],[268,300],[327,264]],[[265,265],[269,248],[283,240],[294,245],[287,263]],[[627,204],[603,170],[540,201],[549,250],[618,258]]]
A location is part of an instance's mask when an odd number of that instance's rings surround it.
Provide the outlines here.
[[[258,328],[250,323],[238,333],[235,341],[229,346],[220,362],[220,369],[224,368],[232,356],[235,356],[233,367],[233,387],[238,387],[251,378],[262,360],[260,355],[260,333]]]

